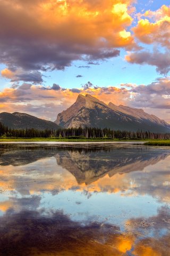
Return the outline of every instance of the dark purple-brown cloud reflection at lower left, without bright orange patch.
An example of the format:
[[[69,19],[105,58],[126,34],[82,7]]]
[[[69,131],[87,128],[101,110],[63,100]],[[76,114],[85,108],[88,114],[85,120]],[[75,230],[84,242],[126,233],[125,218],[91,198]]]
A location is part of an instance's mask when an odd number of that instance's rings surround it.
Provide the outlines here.
[[[95,222],[81,226],[60,211],[48,216],[34,211],[7,212],[0,223],[0,252],[6,256],[108,255],[114,251],[121,255],[108,246],[116,227]]]

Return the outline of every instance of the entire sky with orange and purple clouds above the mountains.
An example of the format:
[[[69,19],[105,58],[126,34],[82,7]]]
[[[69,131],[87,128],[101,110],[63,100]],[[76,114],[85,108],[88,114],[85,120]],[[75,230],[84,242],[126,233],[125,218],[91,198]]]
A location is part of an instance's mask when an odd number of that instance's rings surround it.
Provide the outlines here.
[[[55,121],[87,93],[170,123],[167,0],[0,0],[0,112]]]

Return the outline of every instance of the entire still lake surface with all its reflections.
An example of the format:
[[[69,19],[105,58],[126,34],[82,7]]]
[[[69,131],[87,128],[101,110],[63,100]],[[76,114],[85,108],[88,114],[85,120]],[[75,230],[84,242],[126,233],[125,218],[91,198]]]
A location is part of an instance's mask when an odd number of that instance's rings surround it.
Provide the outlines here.
[[[170,147],[0,144],[0,255],[170,255]]]

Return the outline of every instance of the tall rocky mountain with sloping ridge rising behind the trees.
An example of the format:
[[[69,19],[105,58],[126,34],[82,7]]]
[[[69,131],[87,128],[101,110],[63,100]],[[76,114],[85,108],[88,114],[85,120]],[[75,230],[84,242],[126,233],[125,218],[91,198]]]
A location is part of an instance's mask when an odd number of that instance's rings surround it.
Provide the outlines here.
[[[113,130],[170,132],[170,124],[154,115],[145,113],[142,109],[108,105],[90,94],[79,95],[75,103],[58,114],[57,125],[70,127],[100,127]]]

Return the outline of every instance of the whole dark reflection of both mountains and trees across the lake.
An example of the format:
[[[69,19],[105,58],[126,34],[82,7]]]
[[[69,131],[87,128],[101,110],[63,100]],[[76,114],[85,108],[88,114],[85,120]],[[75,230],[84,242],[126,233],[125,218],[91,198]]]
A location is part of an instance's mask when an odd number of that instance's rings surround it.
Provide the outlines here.
[[[1,145],[0,165],[26,165],[47,157],[71,172],[79,184],[89,184],[108,174],[141,171],[170,154],[168,149],[145,146],[95,145]]]

